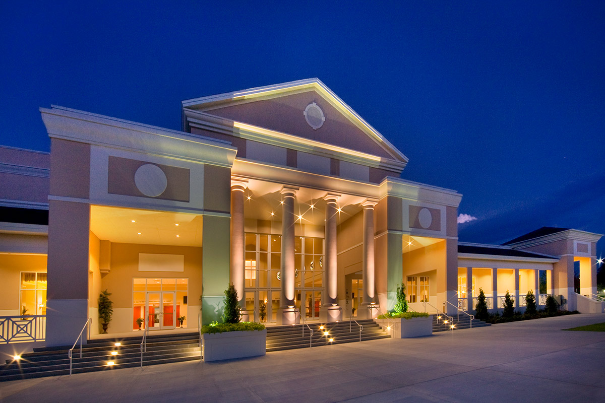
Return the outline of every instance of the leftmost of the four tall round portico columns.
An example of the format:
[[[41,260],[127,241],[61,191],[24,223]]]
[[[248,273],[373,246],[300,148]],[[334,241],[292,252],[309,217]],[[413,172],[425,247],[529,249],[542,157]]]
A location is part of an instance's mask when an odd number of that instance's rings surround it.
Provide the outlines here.
[[[237,291],[242,320],[249,320],[244,298],[244,192],[245,182],[231,182],[231,282]]]

